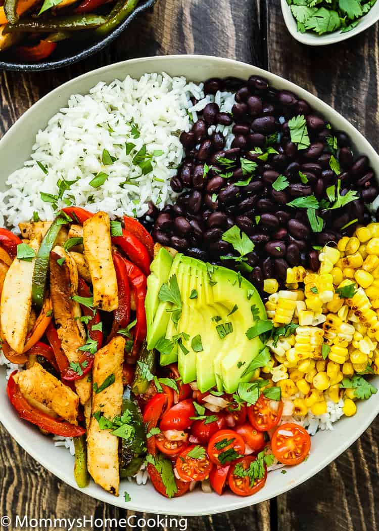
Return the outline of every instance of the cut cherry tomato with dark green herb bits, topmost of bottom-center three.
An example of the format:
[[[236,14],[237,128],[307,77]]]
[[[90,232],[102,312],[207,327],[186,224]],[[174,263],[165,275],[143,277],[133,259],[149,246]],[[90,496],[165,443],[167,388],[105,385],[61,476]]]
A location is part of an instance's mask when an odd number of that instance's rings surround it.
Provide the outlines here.
[[[208,455],[212,463],[225,466],[244,455],[245,441],[232,430],[220,430],[208,444]]]

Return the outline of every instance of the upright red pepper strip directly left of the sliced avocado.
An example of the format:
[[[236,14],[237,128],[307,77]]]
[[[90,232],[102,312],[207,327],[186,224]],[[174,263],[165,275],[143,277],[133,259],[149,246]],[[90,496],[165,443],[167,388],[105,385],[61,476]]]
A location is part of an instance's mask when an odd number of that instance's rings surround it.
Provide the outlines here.
[[[147,281],[142,271],[129,260],[124,258],[129,281],[135,295],[135,311],[137,324],[134,327],[133,353],[136,353],[137,342],[143,341],[147,333],[145,298],[147,292]]]

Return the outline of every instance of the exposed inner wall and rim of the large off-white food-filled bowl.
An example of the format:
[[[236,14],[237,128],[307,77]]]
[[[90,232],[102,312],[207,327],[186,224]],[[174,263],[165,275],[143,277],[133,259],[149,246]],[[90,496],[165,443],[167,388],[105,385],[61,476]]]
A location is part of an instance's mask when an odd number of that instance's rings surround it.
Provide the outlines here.
[[[201,81],[211,76],[237,76],[246,79],[252,74],[262,75],[268,79],[273,87],[296,92],[300,98],[306,99],[315,110],[323,113],[333,127],[346,131],[357,151],[366,153],[370,159],[370,164],[379,175],[379,156],[367,140],[346,119],[306,90],[255,66],[218,57],[179,55],[133,59],[99,68],[99,70],[84,74],[50,92],[33,105],[0,141],[0,160],[2,161],[0,188],[4,188],[7,175],[22,166],[23,161],[29,158],[37,131],[46,126],[49,117],[54,115],[60,107],[66,105],[67,99],[72,93],[86,93],[99,81],[109,83],[115,78],[123,79],[127,74],[139,78],[145,72],[162,71],[170,75],[185,75],[193,81]],[[72,456],[67,450],[54,447],[53,442],[41,435],[31,424],[20,420],[8,402],[4,375],[5,370],[2,367],[0,370],[1,422],[32,457],[61,478],[62,481],[77,488],[73,476]],[[374,378],[373,383],[379,387],[378,376]],[[205,494],[196,490],[182,498],[169,500],[154,491],[151,484],[138,486],[127,481],[120,485],[119,498],[108,494],[92,482],[83,492],[93,498],[119,507],[167,515],[199,516],[239,509],[273,498],[273,496],[293,489],[312,477],[346,450],[366,430],[378,412],[379,393],[369,400],[359,402],[357,414],[351,418],[342,418],[334,425],[334,431],[317,433],[312,438],[311,454],[304,463],[292,468],[287,467],[288,470],[285,475],[281,474],[280,470],[271,472],[264,489],[248,498],[239,498],[232,494],[223,496],[216,493]],[[131,495],[130,502],[124,501],[124,489]]]

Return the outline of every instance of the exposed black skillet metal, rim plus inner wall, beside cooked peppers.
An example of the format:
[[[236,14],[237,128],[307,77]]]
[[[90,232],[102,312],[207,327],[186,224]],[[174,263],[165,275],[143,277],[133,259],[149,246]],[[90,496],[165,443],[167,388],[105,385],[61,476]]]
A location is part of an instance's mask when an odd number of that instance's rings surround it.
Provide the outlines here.
[[[46,61],[39,61],[38,63],[27,63],[12,57],[12,52],[0,53],[0,70],[17,70],[22,72],[40,72],[42,70],[54,70],[61,68],[61,66],[68,66],[77,63],[90,55],[100,52],[103,48],[113,42],[121,33],[128,27],[137,14],[146,11],[153,6],[157,0],[140,0],[135,10],[127,16],[127,18],[119,24],[108,35],[101,39],[82,39],[58,42],[54,53],[49,56]],[[143,24],[143,18],[140,19]]]

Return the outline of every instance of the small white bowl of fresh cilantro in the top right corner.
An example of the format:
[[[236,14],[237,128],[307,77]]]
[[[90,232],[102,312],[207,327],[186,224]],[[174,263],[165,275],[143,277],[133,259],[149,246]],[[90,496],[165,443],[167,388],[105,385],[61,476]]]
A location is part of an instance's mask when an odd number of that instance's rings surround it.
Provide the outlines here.
[[[281,0],[287,29],[311,46],[357,35],[379,20],[376,0]]]

